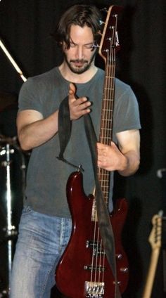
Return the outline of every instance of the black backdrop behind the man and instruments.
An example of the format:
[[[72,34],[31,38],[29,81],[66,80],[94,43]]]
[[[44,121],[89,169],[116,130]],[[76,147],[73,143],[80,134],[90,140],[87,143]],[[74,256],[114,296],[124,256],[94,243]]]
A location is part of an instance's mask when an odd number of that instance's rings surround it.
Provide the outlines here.
[[[160,209],[164,209],[165,214],[165,184],[163,179],[157,176],[158,169],[166,167],[165,0],[1,0],[0,38],[25,77],[50,70],[62,59],[50,32],[63,10],[80,2],[96,4],[99,8],[112,4],[124,7],[120,21],[121,50],[117,54],[117,77],[132,86],[139,102],[142,126],[141,166],[134,176],[127,179],[117,177],[115,195],[125,196],[129,201],[123,240],[129,259],[130,280],[123,297],[140,298],[151,259],[151,245],[148,243],[151,219]],[[97,63],[103,67],[100,59]],[[0,48],[0,134],[5,136],[16,136],[15,101],[22,84],[20,75]],[[11,98],[10,104],[6,104],[8,96]],[[0,150],[4,146],[5,143],[0,143]],[[14,153],[11,154],[11,188],[15,226],[18,224],[23,203],[23,156],[24,153],[14,147]],[[6,169],[2,164],[5,156],[1,155],[0,158],[0,216],[1,227],[4,227]],[[27,155],[25,160],[28,160]],[[6,244],[3,237],[2,235],[0,246],[1,287],[7,283]],[[153,298],[165,297],[162,277],[160,256],[153,285]]]

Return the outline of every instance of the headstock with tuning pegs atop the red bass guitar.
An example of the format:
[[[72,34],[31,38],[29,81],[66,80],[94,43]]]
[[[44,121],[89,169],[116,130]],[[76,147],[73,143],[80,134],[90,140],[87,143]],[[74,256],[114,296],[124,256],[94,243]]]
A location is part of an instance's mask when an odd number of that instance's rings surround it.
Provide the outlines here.
[[[117,52],[120,49],[117,34],[118,13],[122,11],[122,6],[110,6],[106,16],[106,22],[103,28],[101,43],[98,53],[106,61],[110,60],[112,51]]]

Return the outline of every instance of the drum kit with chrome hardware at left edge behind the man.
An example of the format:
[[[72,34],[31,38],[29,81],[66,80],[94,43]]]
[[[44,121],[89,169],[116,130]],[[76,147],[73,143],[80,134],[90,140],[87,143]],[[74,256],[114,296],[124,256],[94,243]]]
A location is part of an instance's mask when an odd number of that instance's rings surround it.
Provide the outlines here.
[[[25,82],[25,77],[0,39],[0,47]],[[18,221],[23,207],[29,153],[21,150],[16,129],[18,98],[0,92],[0,298],[8,297]],[[17,196],[17,198],[16,198]],[[21,198],[21,200],[20,200]],[[19,199],[19,203],[18,203]],[[4,257],[3,257],[4,254]]]

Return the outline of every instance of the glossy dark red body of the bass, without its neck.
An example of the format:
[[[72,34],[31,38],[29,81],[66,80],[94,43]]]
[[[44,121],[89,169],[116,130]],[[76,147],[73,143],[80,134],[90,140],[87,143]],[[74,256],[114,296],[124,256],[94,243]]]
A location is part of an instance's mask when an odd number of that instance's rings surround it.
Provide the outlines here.
[[[94,272],[96,283],[92,283],[92,286],[90,283],[91,271],[93,271],[91,259],[94,253],[91,245],[94,241],[95,228],[95,222],[91,220],[94,197],[93,195],[87,197],[82,185],[82,173],[80,171],[72,173],[67,183],[68,204],[72,214],[72,234],[56,270],[56,285],[58,290],[68,298],[113,298],[115,297],[114,277],[106,257],[104,264],[102,263],[104,269],[100,270],[97,266],[98,270]],[[115,236],[117,281],[121,293],[125,291],[129,278],[127,257],[121,245],[122,227],[126,216],[127,201],[120,199],[117,201],[115,211],[110,214],[110,221]],[[98,238],[95,239],[96,242]],[[98,254],[94,256],[94,263],[98,264],[100,258]],[[100,281],[103,283],[99,283]],[[89,294],[89,287],[94,287],[94,290],[90,290],[91,294]],[[98,290],[97,287],[103,287],[103,290]]]

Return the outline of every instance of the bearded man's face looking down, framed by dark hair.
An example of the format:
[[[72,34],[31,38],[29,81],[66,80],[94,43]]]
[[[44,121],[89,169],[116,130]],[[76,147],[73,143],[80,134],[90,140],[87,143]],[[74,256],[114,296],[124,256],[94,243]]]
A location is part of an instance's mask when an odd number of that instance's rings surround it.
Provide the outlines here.
[[[70,28],[70,48],[63,44],[65,61],[70,70],[82,74],[94,64],[96,50],[91,51],[94,45],[94,36],[91,28],[72,25]]]

